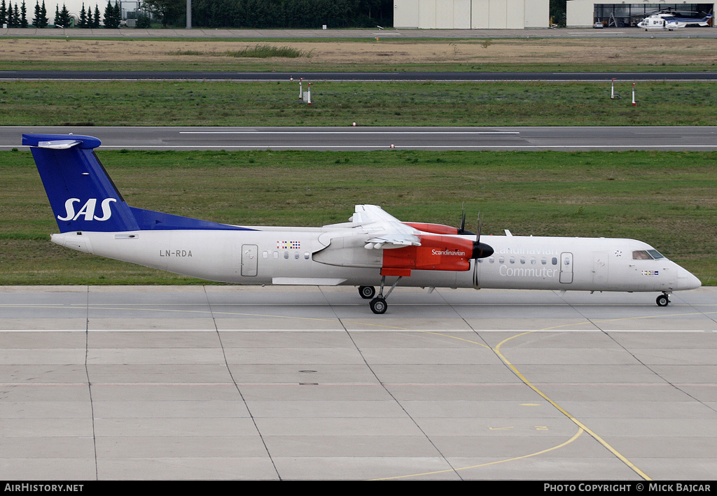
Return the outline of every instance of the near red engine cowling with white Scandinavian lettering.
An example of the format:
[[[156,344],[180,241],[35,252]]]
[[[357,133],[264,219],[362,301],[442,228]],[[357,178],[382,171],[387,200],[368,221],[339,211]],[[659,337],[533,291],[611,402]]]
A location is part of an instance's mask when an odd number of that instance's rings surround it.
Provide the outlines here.
[[[447,236],[419,236],[421,246],[384,249],[381,275],[409,276],[411,270],[470,270],[473,241]]]

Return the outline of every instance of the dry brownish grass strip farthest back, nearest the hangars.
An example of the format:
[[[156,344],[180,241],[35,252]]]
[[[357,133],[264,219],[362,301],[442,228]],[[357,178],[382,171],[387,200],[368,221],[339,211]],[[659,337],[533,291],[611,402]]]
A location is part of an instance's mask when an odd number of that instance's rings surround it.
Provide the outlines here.
[[[260,52],[265,57],[241,57],[242,52],[247,55]],[[379,40],[262,39],[257,42],[237,38],[70,37],[4,38],[0,44],[0,70],[88,67],[92,70],[282,72],[702,71],[717,68],[717,52],[713,39],[696,38],[396,39],[388,36]]]

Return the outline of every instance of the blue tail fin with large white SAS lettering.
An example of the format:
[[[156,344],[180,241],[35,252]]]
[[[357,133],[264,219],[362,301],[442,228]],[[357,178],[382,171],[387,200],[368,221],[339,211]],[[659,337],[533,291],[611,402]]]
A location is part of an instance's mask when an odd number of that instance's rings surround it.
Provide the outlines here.
[[[60,232],[135,231],[130,207],[108,176],[92,136],[24,134]]]

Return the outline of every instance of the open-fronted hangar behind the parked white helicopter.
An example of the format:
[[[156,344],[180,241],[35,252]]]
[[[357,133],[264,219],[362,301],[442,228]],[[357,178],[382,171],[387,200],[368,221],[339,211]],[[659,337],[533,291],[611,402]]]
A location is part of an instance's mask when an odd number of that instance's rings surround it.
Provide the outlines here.
[[[602,22],[606,27],[636,27],[642,19],[660,10],[693,12],[695,15],[701,12],[714,14],[715,11],[715,4],[668,4],[665,1],[648,4],[648,1],[655,0],[613,4],[595,0],[568,0],[566,24],[568,27],[592,27],[596,22]]]

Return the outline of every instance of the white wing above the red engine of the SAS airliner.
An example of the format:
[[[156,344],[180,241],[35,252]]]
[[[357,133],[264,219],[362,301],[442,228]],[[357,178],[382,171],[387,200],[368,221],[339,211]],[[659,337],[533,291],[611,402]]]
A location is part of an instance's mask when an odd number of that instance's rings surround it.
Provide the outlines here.
[[[416,230],[387,214],[380,206],[356,205],[351,222],[357,224],[369,234],[366,249],[391,249],[418,247],[421,239],[414,234]]]

